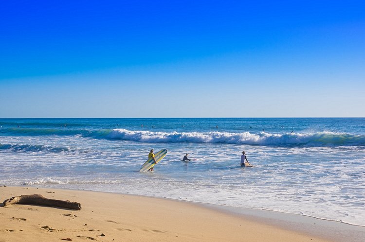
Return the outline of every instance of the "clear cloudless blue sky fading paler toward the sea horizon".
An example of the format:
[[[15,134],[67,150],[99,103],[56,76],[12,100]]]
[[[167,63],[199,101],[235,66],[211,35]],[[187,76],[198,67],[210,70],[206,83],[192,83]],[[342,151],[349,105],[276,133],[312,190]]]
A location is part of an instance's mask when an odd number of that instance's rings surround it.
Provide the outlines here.
[[[365,1],[0,2],[0,118],[365,117]]]

